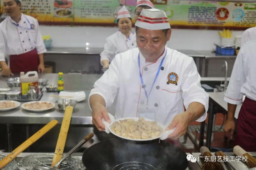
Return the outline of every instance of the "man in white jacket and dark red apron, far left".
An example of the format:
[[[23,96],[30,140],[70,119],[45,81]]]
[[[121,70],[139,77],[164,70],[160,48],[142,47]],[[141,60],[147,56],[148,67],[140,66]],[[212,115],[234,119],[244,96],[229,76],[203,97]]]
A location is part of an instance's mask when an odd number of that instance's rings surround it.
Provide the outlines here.
[[[10,76],[21,71],[44,71],[45,45],[37,19],[24,15],[20,0],[4,0],[8,17],[0,23],[0,65],[2,75]],[[10,55],[10,68],[5,63]]]

